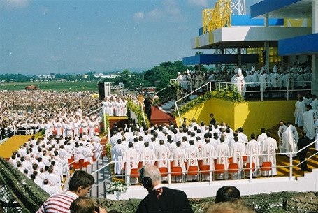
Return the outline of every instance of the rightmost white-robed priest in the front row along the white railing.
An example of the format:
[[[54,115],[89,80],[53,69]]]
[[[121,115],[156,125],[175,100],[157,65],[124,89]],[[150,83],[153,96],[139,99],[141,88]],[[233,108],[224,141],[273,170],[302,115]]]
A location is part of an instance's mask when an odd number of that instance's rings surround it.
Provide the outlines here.
[[[276,168],[276,150],[278,150],[277,142],[271,137],[271,133],[267,133],[267,138],[261,142],[261,151],[263,152],[263,162],[271,162],[272,169],[263,171],[262,175],[277,175]]]

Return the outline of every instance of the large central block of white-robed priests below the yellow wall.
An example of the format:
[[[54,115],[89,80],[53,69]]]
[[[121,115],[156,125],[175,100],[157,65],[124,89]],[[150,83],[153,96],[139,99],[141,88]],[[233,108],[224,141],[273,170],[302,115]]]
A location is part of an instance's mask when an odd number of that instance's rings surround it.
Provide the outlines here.
[[[187,171],[193,167],[200,170],[208,166],[207,170],[217,170],[216,165],[222,164],[228,170],[231,163],[238,164],[238,172],[231,174],[232,179],[243,178],[243,168],[246,163],[255,163],[257,175],[263,162],[271,163],[271,170],[263,172],[264,175],[277,175],[276,155],[277,142],[271,138],[271,133],[261,128],[259,136],[256,134],[247,137],[243,128],[235,131],[224,122],[215,122],[213,114],[210,115],[210,124],[196,123],[182,124],[179,128],[173,124],[152,124],[147,126],[131,126],[113,128],[110,138],[112,145],[112,161],[115,161],[115,174],[126,175],[130,184],[138,183],[137,178],[131,178],[131,170],[146,164],[156,165],[158,168],[179,167],[182,170],[180,177],[175,181],[185,181]],[[290,122],[287,126],[280,122],[278,130],[280,152],[295,152],[298,142],[296,127]],[[250,138],[250,140],[248,139]],[[244,156],[248,156],[246,159]],[[191,168],[191,169],[190,169]],[[224,177],[225,175],[225,177]],[[217,179],[228,178],[227,172],[217,175]],[[198,175],[187,175],[187,181],[198,180]],[[203,180],[208,180],[209,175],[203,175]]]

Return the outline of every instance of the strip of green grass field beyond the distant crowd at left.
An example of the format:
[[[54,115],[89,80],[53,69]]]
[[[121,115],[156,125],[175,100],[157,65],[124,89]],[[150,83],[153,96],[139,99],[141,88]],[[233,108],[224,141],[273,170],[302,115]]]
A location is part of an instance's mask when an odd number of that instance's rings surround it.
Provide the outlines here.
[[[20,90],[28,85],[35,85],[40,90],[54,91],[98,91],[98,81],[73,81],[73,82],[13,82],[3,83],[0,89]]]

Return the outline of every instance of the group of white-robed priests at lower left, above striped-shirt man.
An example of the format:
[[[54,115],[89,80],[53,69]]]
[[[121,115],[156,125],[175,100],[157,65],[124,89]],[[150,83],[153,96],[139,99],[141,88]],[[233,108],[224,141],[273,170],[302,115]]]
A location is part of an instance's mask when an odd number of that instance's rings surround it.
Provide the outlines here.
[[[81,136],[50,135],[28,142],[13,152],[9,162],[20,172],[32,179],[50,195],[61,193],[63,177],[70,175],[69,159],[78,163],[93,163],[103,152],[98,133],[90,137],[87,131]]]

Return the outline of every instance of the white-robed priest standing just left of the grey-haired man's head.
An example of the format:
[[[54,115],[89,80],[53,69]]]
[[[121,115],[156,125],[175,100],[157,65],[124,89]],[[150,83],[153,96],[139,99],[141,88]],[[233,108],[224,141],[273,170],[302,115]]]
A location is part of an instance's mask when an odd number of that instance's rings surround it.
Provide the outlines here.
[[[138,178],[131,177],[131,169],[138,168],[138,152],[133,149],[133,143],[129,142],[128,149],[124,152],[123,161],[125,165],[126,184],[138,184]]]

